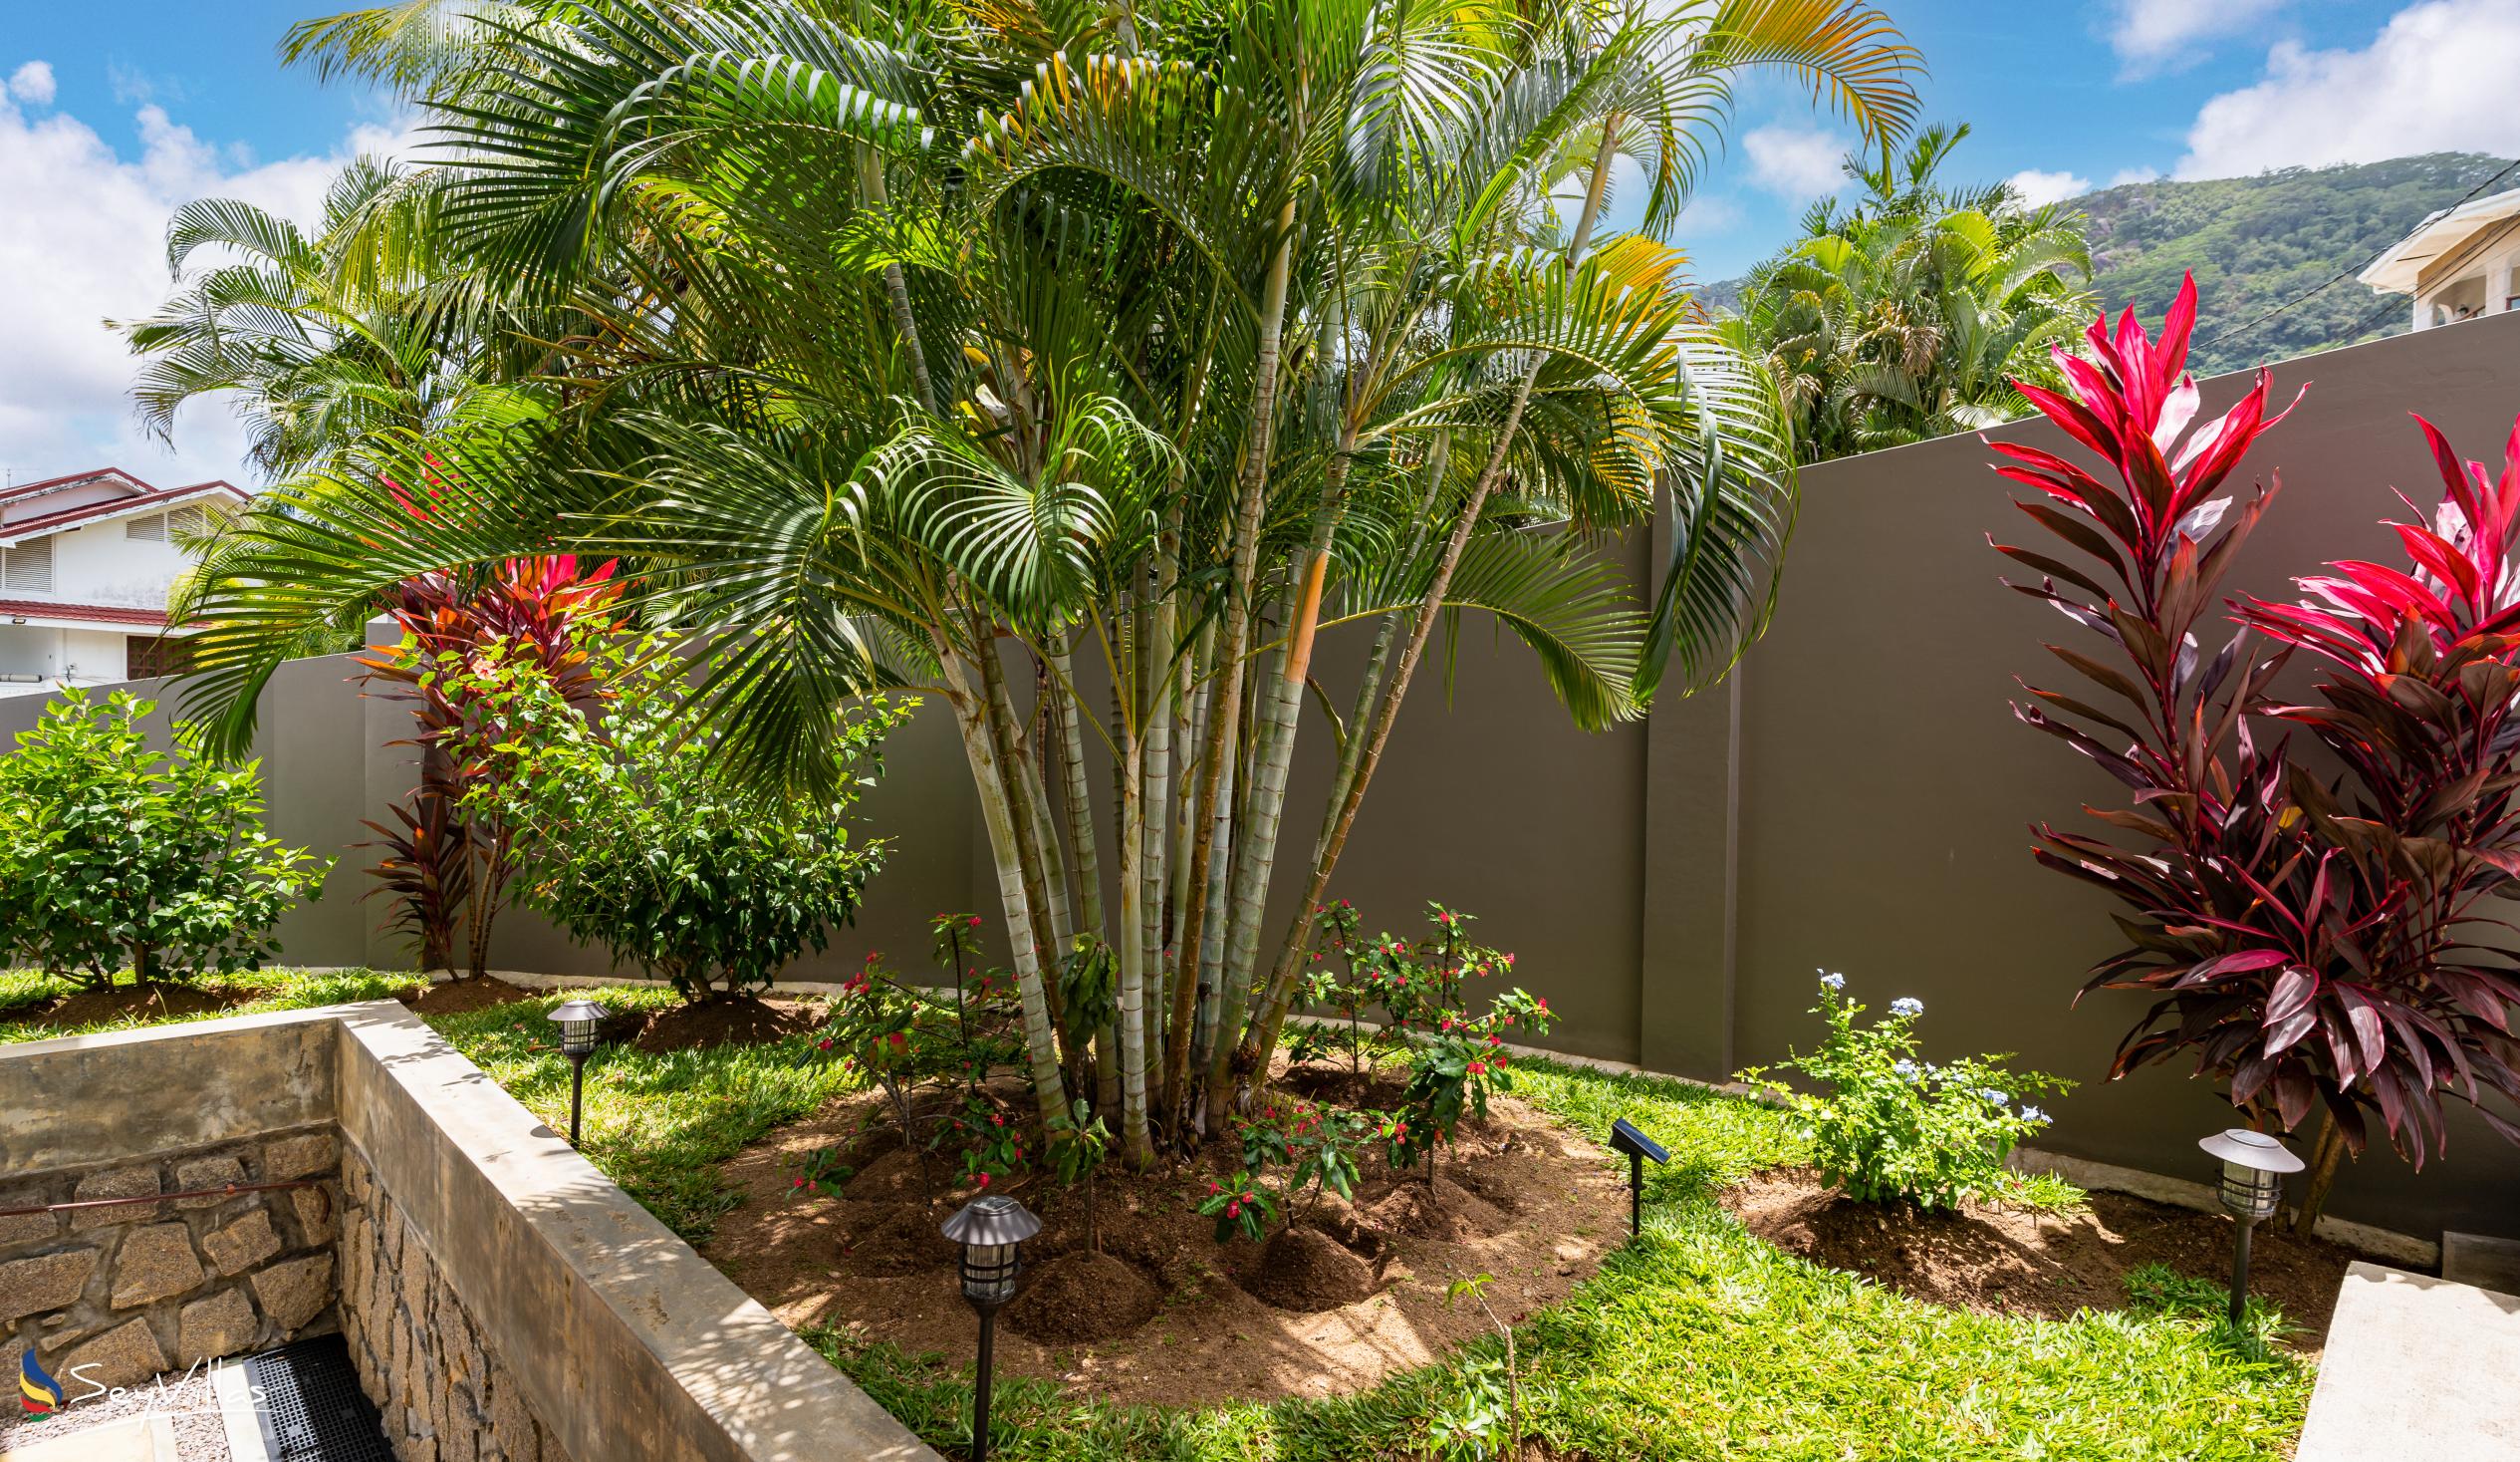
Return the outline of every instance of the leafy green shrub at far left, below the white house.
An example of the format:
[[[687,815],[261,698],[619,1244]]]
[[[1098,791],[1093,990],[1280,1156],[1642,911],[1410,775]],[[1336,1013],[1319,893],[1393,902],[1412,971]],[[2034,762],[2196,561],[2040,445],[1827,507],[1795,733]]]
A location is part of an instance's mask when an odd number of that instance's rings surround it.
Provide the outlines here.
[[[0,756],[0,950],[111,983],[260,968],[325,860],[262,834],[255,764],[149,749],[129,691],[68,691]]]

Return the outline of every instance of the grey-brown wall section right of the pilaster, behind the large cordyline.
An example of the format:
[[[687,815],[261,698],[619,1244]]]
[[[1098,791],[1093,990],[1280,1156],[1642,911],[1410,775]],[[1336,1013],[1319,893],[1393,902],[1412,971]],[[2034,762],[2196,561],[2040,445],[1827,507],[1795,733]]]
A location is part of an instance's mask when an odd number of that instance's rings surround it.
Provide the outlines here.
[[[2397,562],[2379,527],[2404,517],[2391,486],[2427,512],[2439,497],[2407,413],[2500,464],[2520,413],[2520,320],[2291,360],[2276,368],[2278,401],[2303,381],[2301,411],[2250,454],[2250,469],[2281,474],[2283,486],[2230,592],[2288,597],[2288,577],[2326,560]],[[2205,411],[2243,388],[2240,376],[2210,381]],[[2044,421],[1998,436],[2079,451]],[[1716,885],[1734,895],[1719,920],[1729,938],[1696,928],[1648,963],[1648,986],[1666,986],[1648,1049],[1686,1051],[1668,1064],[1714,1074],[1807,1044],[1812,970],[1827,965],[1867,1003],[1923,998],[1933,1049],[2019,1051],[2026,1066],[2082,1081],[2051,1104],[2059,1124],[2046,1147],[2200,1172],[2195,1137],[2225,1124],[2228,1107],[2182,1069],[2104,1081],[2142,1006],[2097,993],[2074,1008],[2074,991],[2119,945],[2114,902],[2029,857],[2029,822],[2076,827],[2084,802],[2124,799],[2008,711],[2013,673],[2064,686],[2069,671],[2039,645],[2071,625],[1996,585],[2011,565],[1986,534],[2036,542],[2039,527],[2008,507],[2011,484],[1988,456],[1976,439],[1945,439],[1804,474],[1784,602],[1734,686],[1736,731],[1724,736],[1716,703],[1681,711],[1696,721],[1686,741],[1701,766],[1739,764],[1734,832],[1719,834],[1706,807],[1691,817],[1653,807],[1656,839],[1681,844],[1656,892],[1688,905]],[[1731,1011],[1721,1064],[1701,1051],[1696,1023],[1719,1008]],[[2366,1154],[2339,1180],[2331,1210],[2409,1233],[2520,1233],[2520,1152],[2462,1114],[2447,1160],[2409,1175],[2389,1152]]]

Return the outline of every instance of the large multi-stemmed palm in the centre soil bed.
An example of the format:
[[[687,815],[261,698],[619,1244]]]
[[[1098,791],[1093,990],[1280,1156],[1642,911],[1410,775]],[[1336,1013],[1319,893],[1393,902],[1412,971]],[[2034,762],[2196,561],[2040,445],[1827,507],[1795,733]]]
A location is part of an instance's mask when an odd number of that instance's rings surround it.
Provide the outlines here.
[[[1764,623],[1777,401],[1671,250],[1595,237],[1613,159],[1676,214],[1756,66],[1867,134],[1913,106],[1913,55],[1842,0],[612,0],[494,43],[431,71],[431,227],[582,320],[554,411],[365,436],[270,494],[192,708],[234,746],[292,625],[519,547],[617,555],[638,613],[716,640],[698,698],[764,776],[811,774],[847,696],[920,686],[980,797],[1041,1112],[1091,1069],[1139,1162],[1275,1044],[1308,698],[1348,708],[1318,895],[1446,613],[1497,615],[1588,726]],[[426,514],[391,489],[416,471]],[[1638,607],[1585,544],[1666,502]],[[1343,696],[1310,658],[1338,625],[1376,635]],[[1119,1011],[1066,1031],[1051,965],[1094,945]]]

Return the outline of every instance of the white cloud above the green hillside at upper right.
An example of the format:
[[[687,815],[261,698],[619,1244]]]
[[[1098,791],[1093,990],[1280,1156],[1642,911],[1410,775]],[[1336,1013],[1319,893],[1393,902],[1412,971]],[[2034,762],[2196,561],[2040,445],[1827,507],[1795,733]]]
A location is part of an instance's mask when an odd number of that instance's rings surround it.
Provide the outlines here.
[[[2197,111],[2177,176],[2379,161],[2419,151],[2520,156],[2520,5],[2429,0],[2361,50],[2278,43],[2265,81]]]

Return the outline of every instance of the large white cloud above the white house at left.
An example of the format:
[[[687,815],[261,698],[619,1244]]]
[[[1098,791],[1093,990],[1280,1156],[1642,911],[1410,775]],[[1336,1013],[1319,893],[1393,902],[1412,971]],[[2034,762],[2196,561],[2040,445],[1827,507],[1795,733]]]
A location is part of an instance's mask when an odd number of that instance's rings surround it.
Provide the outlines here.
[[[144,436],[126,396],[134,358],[106,320],[169,292],[166,214],[197,197],[242,197],[312,222],[333,171],[360,151],[408,151],[411,131],[358,126],[330,156],[239,159],[159,106],[136,113],[141,156],[123,161],[76,116],[28,116],[18,68],[0,96],[0,469],[18,481],[123,466],[151,481],[249,484],[239,426],[217,403],[186,408],[174,449]],[[50,73],[45,73],[45,88]]]

